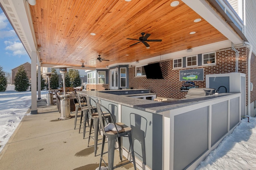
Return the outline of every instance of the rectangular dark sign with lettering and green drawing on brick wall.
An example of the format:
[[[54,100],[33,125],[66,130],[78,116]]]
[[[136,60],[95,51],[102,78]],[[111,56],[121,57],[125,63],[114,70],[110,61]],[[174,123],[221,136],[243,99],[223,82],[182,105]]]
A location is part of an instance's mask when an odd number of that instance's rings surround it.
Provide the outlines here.
[[[203,81],[204,68],[180,70],[180,81]]]

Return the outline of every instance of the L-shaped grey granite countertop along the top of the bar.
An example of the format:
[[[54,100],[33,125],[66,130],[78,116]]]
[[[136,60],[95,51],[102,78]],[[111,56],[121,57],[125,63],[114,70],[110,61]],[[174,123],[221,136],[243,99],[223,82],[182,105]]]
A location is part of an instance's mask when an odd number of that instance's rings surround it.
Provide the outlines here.
[[[222,98],[227,95],[236,94],[236,93],[221,93],[221,94],[206,96],[203,98],[183,99],[183,100],[175,100],[175,101],[168,101],[168,102],[156,102],[153,100],[145,100],[140,98],[131,98],[123,95],[108,94],[100,91],[78,91],[77,93],[96,97],[102,100],[107,100],[109,102],[121,104],[121,105],[132,107],[135,109],[148,111],[150,113],[161,113],[164,111],[177,109],[180,107],[191,106],[194,104],[206,102],[215,98]]]

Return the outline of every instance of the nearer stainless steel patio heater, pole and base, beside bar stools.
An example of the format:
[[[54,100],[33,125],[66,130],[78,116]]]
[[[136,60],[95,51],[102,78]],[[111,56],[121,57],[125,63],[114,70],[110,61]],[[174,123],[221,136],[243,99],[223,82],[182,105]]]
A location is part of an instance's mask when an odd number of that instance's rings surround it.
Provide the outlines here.
[[[60,120],[66,120],[70,119],[70,99],[68,96],[70,94],[66,94],[66,82],[65,82],[65,76],[66,76],[67,68],[66,67],[60,67],[60,73],[63,80],[63,95],[60,95],[63,99],[60,100]]]

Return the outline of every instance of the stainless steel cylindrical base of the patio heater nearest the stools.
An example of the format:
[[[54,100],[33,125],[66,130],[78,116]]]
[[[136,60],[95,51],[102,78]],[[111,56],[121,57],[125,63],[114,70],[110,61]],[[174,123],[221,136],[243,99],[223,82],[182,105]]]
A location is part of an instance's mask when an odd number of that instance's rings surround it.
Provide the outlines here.
[[[62,95],[61,95],[62,97]],[[70,119],[70,99],[64,98],[60,100],[60,120]]]

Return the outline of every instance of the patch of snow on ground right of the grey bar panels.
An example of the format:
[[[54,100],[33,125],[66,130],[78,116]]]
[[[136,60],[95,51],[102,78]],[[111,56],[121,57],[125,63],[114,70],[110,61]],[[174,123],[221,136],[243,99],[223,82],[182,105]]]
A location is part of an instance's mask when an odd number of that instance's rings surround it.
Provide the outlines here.
[[[256,118],[249,121],[242,119],[196,170],[256,170]]]

